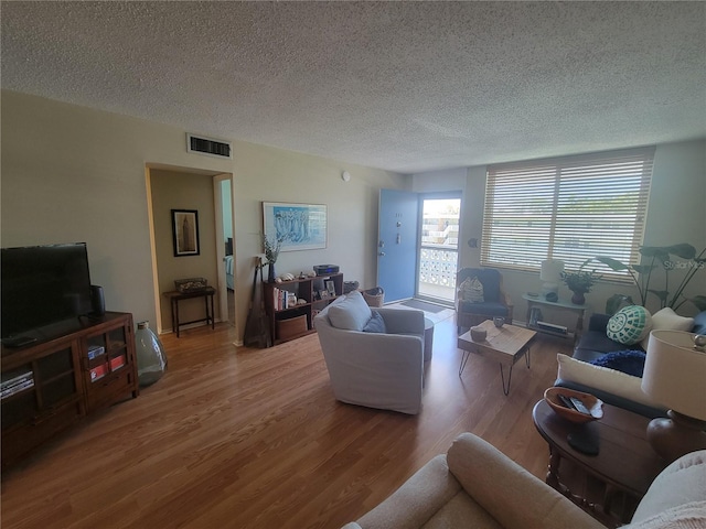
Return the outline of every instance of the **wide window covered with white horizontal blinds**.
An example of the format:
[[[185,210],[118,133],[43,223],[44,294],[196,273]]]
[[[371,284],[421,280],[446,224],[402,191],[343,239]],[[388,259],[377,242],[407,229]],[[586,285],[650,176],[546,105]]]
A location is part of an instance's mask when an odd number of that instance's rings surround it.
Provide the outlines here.
[[[481,264],[538,271],[544,259],[577,270],[608,256],[640,262],[654,148],[488,168]],[[627,272],[598,269],[606,278]]]

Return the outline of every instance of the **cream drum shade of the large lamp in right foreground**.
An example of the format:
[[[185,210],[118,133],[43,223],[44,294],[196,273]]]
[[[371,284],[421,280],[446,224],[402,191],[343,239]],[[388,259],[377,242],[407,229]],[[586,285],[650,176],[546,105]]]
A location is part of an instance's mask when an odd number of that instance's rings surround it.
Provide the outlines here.
[[[694,348],[694,336],[650,333],[642,391],[671,410],[706,421],[706,353]]]

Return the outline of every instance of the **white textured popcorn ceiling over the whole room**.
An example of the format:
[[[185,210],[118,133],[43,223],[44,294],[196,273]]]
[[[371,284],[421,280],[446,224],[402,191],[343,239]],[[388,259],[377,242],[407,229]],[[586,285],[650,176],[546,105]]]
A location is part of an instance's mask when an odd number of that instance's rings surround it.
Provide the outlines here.
[[[706,137],[704,2],[2,2],[2,87],[402,173]]]

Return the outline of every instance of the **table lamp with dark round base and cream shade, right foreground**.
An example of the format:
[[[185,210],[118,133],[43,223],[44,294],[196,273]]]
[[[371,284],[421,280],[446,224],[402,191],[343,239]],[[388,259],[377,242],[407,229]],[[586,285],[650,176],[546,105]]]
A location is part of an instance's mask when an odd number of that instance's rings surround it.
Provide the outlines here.
[[[706,449],[706,336],[652,331],[642,391],[668,408],[648,425],[648,441],[666,461]]]

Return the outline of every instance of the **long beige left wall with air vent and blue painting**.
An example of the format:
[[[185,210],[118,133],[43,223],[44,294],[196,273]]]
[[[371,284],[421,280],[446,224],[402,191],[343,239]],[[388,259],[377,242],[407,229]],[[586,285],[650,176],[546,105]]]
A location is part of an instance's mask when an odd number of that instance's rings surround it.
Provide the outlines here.
[[[263,201],[329,207],[328,248],[282,253],[280,273],[338,263],[346,280],[375,284],[378,191],[405,187],[403,175],[239,141],[233,142],[233,160],[220,160],[186,152],[186,131],[178,127],[7,90],[1,105],[0,242],[86,241],[92,280],[103,285],[108,310],[156,322],[159,292],[173,281],[160,277],[164,283],[156,285],[152,272],[147,165],[234,175],[240,334],[253,257],[263,251]],[[341,180],[343,170],[352,175],[347,183]],[[164,240],[160,236],[156,242]]]

